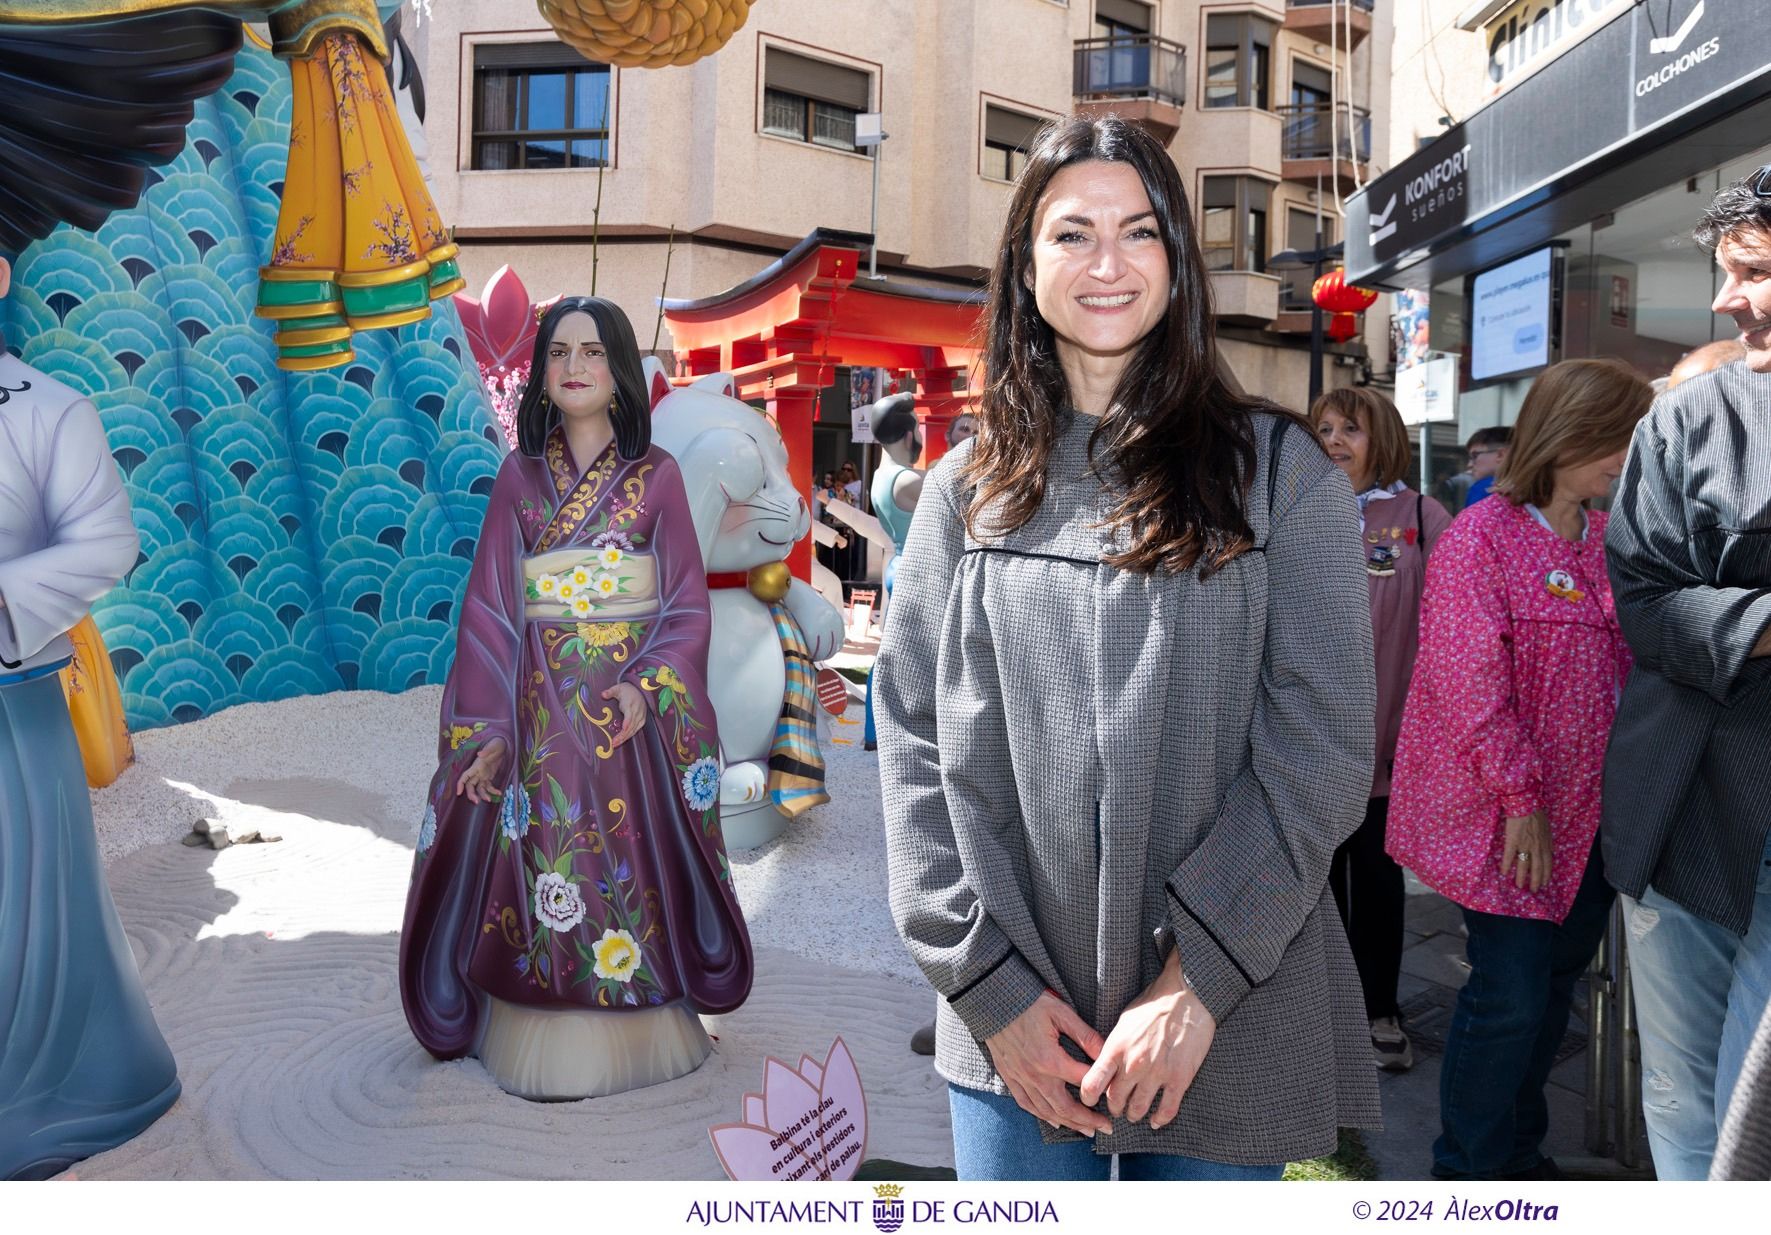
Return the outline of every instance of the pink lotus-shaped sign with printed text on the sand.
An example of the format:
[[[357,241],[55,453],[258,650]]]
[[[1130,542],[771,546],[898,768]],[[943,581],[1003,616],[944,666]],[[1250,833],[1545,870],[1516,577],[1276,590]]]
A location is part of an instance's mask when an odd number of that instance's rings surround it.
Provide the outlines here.
[[[744,1095],[744,1120],[710,1129],[726,1175],[747,1182],[852,1180],[868,1146],[868,1100],[841,1038],[820,1067],[770,1058],[763,1091]]]

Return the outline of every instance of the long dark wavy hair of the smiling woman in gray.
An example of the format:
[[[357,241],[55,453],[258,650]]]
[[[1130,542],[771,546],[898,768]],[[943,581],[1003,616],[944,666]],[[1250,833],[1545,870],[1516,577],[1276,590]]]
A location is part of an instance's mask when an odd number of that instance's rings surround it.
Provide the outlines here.
[[[1047,462],[1068,400],[1056,335],[1029,289],[1040,198],[1066,167],[1128,163],[1144,183],[1169,253],[1169,307],[1126,361],[1107,415],[1089,436],[1089,459],[1123,487],[1105,528],[1126,528],[1130,548],[1110,565],[1211,574],[1254,544],[1243,514],[1254,478],[1256,411],[1280,411],[1238,395],[1217,367],[1211,280],[1199,253],[1181,177],[1162,145],[1118,117],[1071,115],[1048,124],[1015,183],[985,326],[985,393],[978,439],[965,464],[976,487],[965,514],[979,535],[1022,526],[1045,500]]]

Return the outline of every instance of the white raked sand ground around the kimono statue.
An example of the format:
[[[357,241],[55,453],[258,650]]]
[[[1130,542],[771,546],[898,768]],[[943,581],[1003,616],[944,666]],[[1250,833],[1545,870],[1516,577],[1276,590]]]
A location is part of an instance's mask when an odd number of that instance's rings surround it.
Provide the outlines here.
[[[475,1060],[425,1054],[395,975],[439,696],[255,703],[136,735],[94,817],[184,1095],[80,1178],[723,1178],[707,1129],[739,1118],[763,1058],[822,1060],[838,1035],[868,1093],[866,1155],[951,1166],[946,1086],[909,1049],[933,994],[891,925],[859,723],[825,744],[836,801],[733,856],[756,985],[708,1017],[698,1072],[535,1104]],[[197,817],[283,840],[188,849]]]

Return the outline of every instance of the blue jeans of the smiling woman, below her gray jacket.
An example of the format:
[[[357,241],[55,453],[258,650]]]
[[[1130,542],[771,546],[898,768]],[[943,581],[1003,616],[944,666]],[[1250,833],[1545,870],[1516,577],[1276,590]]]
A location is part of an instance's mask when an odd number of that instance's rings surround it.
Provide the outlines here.
[[[1094,1141],[1047,1145],[1040,1122],[1015,1099],[985,1090],[947,1086],[953,1107],[953,1166],[962,1180],[1105,1180],[1112,1153],[1096,1153]],[[1277,1166],[1229,1166],[1179,1153],[1119,1153],[1121,1180],[1277,1180]]]

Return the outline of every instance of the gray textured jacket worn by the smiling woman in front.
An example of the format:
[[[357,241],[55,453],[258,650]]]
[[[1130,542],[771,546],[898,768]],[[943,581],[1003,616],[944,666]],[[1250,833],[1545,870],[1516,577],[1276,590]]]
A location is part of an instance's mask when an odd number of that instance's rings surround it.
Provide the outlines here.
[[[1171,1125],[1118,1120],[1094,1150],[1323,1153],[1335,1127],[1378,1122],[1326,891],[1371,788],[1353,493],[1300,425],[1270,470],[1261,415],[1261,549],[1204,583],[1118,571],[1100,562],[1112,494],[1087,464],[1093,423],[1064,429],[1034,519],[988,544],[963,528],[962,445],[898,565],[873,682],[880,785],[893,914],[942,996],[935,1063],[1004,1093],[979,1042],[1047,987],[1105,1035],[1155,980],[1167,925],[1217,1038]]]

